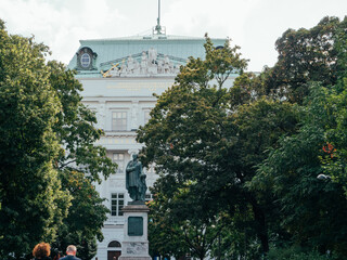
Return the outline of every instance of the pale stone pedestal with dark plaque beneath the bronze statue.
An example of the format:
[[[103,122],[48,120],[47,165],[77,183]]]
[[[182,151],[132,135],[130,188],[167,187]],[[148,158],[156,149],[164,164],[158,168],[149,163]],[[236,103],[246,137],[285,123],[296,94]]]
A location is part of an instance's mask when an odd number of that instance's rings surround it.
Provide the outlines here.
[[[152,259],[147,240],[149,211],[149,207],[142,202],[132,202],[123,208],[125,223],[119,260]]]

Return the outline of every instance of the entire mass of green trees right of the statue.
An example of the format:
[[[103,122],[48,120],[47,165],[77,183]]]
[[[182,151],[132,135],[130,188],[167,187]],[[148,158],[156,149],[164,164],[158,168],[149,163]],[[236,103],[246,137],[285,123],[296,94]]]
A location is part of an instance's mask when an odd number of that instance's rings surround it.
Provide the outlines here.
[[[139,130],[143,161],[159,173],[153,224],[168,230],[163,239],[183,234],[184,221],[211,226],[228,216],[211,256],[260,259],[270,248],[273,257],[298,247],[286,256],[344,259],[346,29],[346,18],[324,17],[311,29],[286,30],[278,63],[260,75],[243,73],[246,61],[230,63],[240,55],[207,38],[206,58],[189,60]],[[176,239],[187,250],[184,237]]]

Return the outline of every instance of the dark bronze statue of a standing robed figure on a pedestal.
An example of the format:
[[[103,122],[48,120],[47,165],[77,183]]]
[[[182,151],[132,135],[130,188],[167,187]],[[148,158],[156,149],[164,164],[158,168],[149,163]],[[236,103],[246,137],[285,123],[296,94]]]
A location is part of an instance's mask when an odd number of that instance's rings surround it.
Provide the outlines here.
[[[146,176],[143,172],[142,164],[138,160],[138,155],[132,155],[132,160],[126,169],[126,187],[132,200],[144,202],[147,186],[145,184]]]

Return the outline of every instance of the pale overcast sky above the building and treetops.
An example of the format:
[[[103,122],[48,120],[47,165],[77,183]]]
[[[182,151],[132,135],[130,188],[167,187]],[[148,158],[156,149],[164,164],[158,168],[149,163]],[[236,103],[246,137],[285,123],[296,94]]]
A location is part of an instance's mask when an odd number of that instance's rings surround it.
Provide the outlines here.
[[[162,0],[167,35],[232,39],[260,72],[277,61],[275,40],[287,29],[311,28],[326,16],[347,15],[347,0]],[[158,0],[0,0],[10,34],[35,35],[52,58],[67,64],[80,39],[151,34]]]

